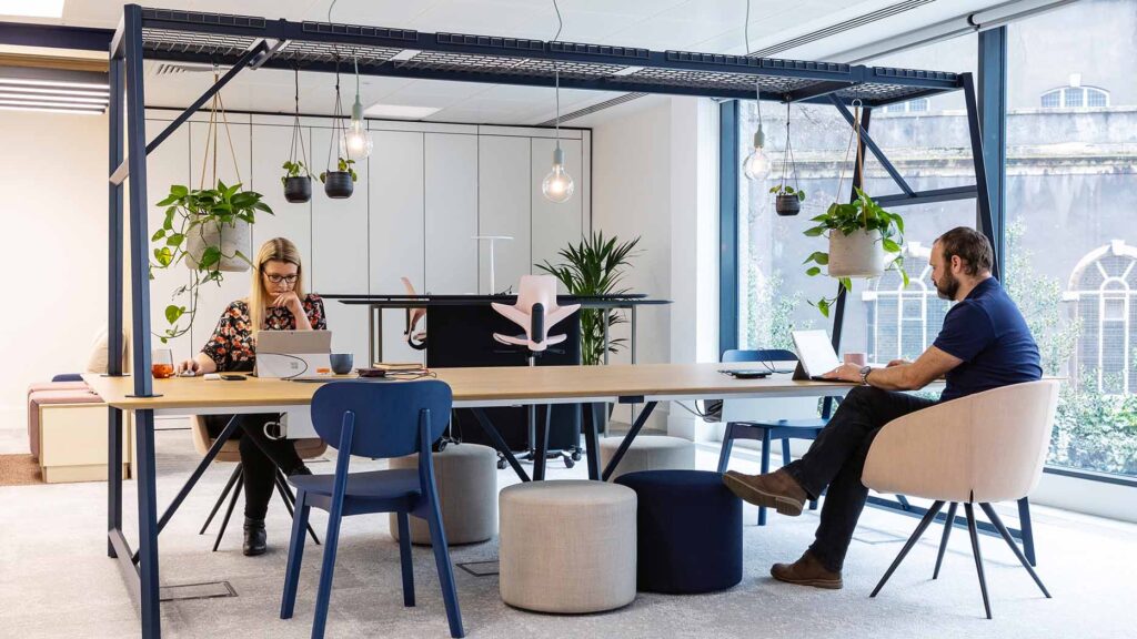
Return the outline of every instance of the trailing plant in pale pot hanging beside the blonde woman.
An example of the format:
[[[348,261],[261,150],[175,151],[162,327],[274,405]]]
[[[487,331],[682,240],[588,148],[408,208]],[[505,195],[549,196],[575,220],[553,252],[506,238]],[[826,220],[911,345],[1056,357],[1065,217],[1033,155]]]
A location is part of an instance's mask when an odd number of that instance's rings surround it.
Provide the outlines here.
[[[216,80],[215,73],[214,81]],[[157,204],[159,207],[166,207],[166,215],[161,227],[150,238],[153,243],[153,262],[150,263],[150,268],[151,271],[169,268],[184,262],[190,271],[189,282],[179,287],[172,296],[172,299],[176,300],[183,294],[189,294],[189,305],[175,301],[165,308],[166,321],[171,327],[158,334],[163,342],[185,334],[193,325],[201,284],[216,282],[221,285],[224,273],[249,269],[252,263],[246,252],[250,247],[256,214],[257,211],[273,214],[272,208],[262,201],[260,193],[242,190],[240,168],[232,143],[230,143],[230,155],[238,182],[225,184],[217,179],[218,115],[225,125],[226,139],[232,140],[229,135],[225,107],[218,92],[210,106],[205,161],[198,188],[190,189],[174,184],[169,188],[169,194]],[[206,189],[206,167],[210,164],[213,188]],[[186,317],[189,321],[183,325],[182,320]]]

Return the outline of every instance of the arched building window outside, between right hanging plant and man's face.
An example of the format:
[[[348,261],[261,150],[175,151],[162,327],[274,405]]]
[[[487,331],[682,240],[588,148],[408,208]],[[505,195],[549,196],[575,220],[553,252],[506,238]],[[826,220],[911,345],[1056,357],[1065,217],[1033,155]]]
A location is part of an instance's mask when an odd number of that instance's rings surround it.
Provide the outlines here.
[[[936,341],[951,302],[936,293],[930,256],[930,247],[908,242],[904,248],[908,287],[904,288],[899,273],[888,271],[861,293],[869,322],[870,362],[915,359]]]

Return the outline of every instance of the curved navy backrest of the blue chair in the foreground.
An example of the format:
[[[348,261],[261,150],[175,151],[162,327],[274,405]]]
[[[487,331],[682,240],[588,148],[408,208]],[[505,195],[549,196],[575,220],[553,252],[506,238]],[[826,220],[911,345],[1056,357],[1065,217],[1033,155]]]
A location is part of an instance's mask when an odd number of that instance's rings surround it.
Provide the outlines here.
[[[450,421],[454,399],[446,382],[330,382],[312,397],[312,423],[319,437],[339,448],[343,416],[351,412],[351,455],[372,458],[402,457],[433,443]],[[430,432],[420,435],[423,410],[430,412]]]

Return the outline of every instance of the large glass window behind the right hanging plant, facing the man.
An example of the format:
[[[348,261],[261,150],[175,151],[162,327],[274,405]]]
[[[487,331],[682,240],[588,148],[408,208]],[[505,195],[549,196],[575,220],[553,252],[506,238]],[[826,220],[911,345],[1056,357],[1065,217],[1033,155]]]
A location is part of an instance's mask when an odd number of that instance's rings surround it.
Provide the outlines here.
[[[877,66],[974,72],[978,42],[974,35],[938,42],[921,49],[872,60]],[[953,60],[944,68],[943,60]],[[741,157],[749,152],[757,125],[753,101],[740,105]],[[739,247],[740,348],[788,348],[794,327],[831,329],[810,301],[832,297],[836,280],[808,277],[802,260],[815,250],[827,250],[823,239],[806,238],[810,218],[835,200],[852,194],[852,127],[828,105],[794,105],[789,109],[792,163],[787,181],[805,191],[802,213],[780,217],[770,188],[782,177],[787,140],[785,105],[764,102],[763,123],[772,168],[758,182],[741,179],[739,194],[741,240]],[[907,182],[916,190],[974,183],[962,92],[899,102],[872,113],[869,131]],[[870,196],[901,192],[885,168],[870,156],[865,161],[865,186]],[[954,226],[973,226],[973,200],[894,209],[905,216],[905,263],[911,284],[905,289],[897,273],[872,281],[855,281],[847,300],[844,351],[868,352],[870,359],[888,362],[914,358],[935,339],[948,305],[936,296],[929,279],[932,241]]]

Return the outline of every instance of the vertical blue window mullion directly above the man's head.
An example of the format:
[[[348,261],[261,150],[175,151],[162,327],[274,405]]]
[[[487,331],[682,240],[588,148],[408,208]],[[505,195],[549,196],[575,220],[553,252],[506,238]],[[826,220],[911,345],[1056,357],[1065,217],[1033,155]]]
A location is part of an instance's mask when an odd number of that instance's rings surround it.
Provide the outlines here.
[[[988,239],[996,264],[1006,264],[1006,27],[979,32],[979,131],[990,204]],[[982,221],[979,222],[982,227]],[[999,276],[999,272],[994,272]]]

